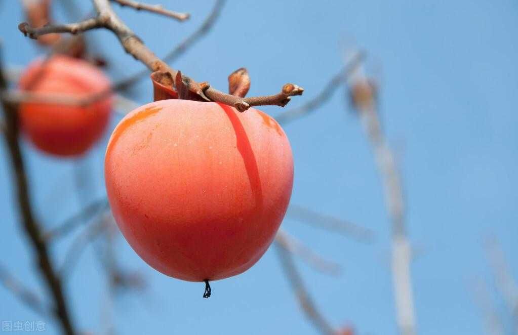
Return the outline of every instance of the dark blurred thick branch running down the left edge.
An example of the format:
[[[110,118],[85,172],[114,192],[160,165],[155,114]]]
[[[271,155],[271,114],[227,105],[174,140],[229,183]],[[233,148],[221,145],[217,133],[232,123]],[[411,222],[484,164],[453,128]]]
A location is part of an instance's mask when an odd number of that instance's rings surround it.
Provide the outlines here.
[[[2,68],[3,67],[0,64],[0,90],[5,91],[7,89],[7,81],[3,75]],[[70,319],[70,313],[64,297],[61,280],[54,269],[47,243],[43,238],[40,224],[37,222],[33,213],[24,161],[20,150],[20,144],[18,142],[19,125],[17,108],[15,105],[5,100],[2,100],[2,106],[4,108],[5,121],[7,125],[4,137],[11,157],[13,170],[12,179],[13,184],[16,185],[16,196],[18,198],[18,206],[22,217],[22,226],[27,238],[31,241],[34,247],[39,273],[45,279],[45,283],[52,294],[54,300],[54,315],[60,322],[64,333],[74,334],[75,330]]]

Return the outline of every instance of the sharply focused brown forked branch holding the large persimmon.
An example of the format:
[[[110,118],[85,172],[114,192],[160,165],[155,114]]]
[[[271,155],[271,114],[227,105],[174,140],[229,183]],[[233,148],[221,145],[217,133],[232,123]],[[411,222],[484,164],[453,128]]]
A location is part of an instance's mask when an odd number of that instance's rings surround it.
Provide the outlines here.
[[[78,31],[88,30],[90,28],[104,27],[112,31],[119,39],[122,47],[127,53],[130,53],[143,64],[145,64],[151,71],[166,72],[169,74],[168,78],[176,78],[179,73],[178,70],[171,68],[164,61],[159,59],[150,49],[148,49],[142,40],[138,38],[135,33],[117,16],[111,8],[109,0],[93,0],[97,17],[91,19],[94,22],[88,23],[83,21],[81,24],[68,25],[48,25],[42,28],[34,28],[27,23],[19,25],[20,31],[32,38],[49,33],[77,33]],[[84,29],[87,27],[87,29]],[[181,82],[190,92],[198,96],[202,100],[218,101],[220,103],[233,106],[239,111],[245,111],[252,106],[282,106],[289,103],[291,96],[301,95],[304,89],[295,84],[285,84],[278,94],[260,97],[241,98],[231,94],[223,93],[214,89],[207,82],[200,84],[188,76],[181,76]]]

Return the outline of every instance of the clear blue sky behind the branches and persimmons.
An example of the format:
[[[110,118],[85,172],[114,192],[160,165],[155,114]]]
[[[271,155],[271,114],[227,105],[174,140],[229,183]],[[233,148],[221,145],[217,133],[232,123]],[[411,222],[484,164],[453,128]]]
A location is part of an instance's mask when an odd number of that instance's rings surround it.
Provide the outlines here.
[[[68,0],[67,0],[68,1]],[[157,2],[157,1],[155,1]],[[178,23],[115,6],[120,16],[157,54],[165,54],[194,31],[212,1],[165,1],[188,11]],[[55,1],[55,17],[66,21]],[[89,1],[81,3],[84,13]],[[18,32],[23,21],[15,0],[0,3],[4,60],[24,65],[38,52]],[[367,68],[381,82],[380,113],[395,149],[408,201],[408,230],[419,251],[412,263],[420,334],[483,334],[484,319],[474,284],[488,284],[490,297],[509,328],[510,315],[494,289],[483,241],[496,236],[518,278],[518,4],[515,1],[228,1],[208,36],[174,66],[199,81],[226,88],[233,70],[246,66],[250,95],[275,93],[285,82],[303,86],[303,104],[320,92],[343,65],[352,40],[368,54]],[[109,32],[88,33],[108,54],[113,78],[143,68]],[[134,90],[139,103],[152,97],[144,80]],[[335,326],[352,324],[360,334],[396,334],[389,267],[390,222],[381,180],[359,120],[343,90],[312,115],[285,127],[295,158],[292,203],[351,220],[376,231],[366,245],[286,219],[282,227],[343,267],[330,278],[297,263],[321,311]],[[265,107],[276,115],[278,107]],[[113,118],[111,127],[118,118]],[[108,136],[108,134],[107,134]],[[77,166],[91,172],[89,193],[104,195],[106,138],[79,162],[54,159],[24,142],[31,195],[41,221],[52,227],[81,208],[75,193]],[[0,144],[1,262],[44,294],[34,260],[19,228],[5,143]],[[78,231],[80,232],[80,230]],[[52,250],[61,264],[72,239]],[[275,250],[249,271],[212,284],[168,278],[149,268],[119,236],[122,263],[143,273],[148,289],[123,293],[112,318],[121,334],[312,334],[284,278]],[[66,281],[74,319],[84,330],[103,330],[107,287],[89,247]],[[0,319],[37,321],[0,288]],[[48,322],[50,333],[57,327]]]

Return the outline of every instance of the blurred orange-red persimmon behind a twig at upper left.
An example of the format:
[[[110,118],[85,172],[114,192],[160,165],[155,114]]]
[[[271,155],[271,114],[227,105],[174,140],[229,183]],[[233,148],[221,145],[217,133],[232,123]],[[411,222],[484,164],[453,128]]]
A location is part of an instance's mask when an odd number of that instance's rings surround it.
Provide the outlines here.
[[[21,90],[77,98],[105,92],[110,86],[110,80],[95,66],[64,55],[53,56],[46,64],[34,61],[19,82]],[[111,109],[112,97],[108,95],[86,106],[23,103],[19,115],[24,133],[38,149],[57,156],[77,156],[102,137]]]

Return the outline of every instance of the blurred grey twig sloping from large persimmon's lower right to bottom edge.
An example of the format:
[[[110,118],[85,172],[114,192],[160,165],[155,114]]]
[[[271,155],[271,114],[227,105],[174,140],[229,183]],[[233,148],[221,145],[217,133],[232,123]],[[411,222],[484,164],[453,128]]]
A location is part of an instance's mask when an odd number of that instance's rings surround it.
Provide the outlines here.
[[[313,326],[323,335],[334,335],[335,331],[329,322],[318,310],[313,299],[309,296],[308,290],[304,285],[302,276],[298,272],[292,254],[285,249],[281,243],[274,244],[281,261],[282,270],[298,299],[300,308]]]

